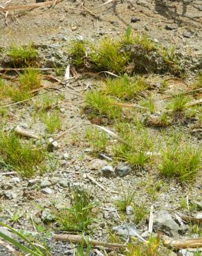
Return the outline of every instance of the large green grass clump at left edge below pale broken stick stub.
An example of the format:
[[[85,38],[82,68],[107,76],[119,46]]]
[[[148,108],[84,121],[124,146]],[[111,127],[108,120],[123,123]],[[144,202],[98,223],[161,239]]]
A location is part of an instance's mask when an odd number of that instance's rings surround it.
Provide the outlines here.
[[[33,147],[31,143],[21,142],[14,134],[0,134],[0,156],[20,176],[31,177],[36,173],[36,167],[42,167],[46,157],[43,149]]]

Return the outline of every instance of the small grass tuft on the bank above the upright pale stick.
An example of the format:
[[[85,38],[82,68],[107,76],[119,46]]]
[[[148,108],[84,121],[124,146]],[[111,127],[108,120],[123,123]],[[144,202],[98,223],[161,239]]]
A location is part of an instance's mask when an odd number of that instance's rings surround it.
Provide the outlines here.
[[[75,40],[72,42],[72,46],[68,49],[68,53],[71,54],[73,64],[75,66],[84,65],[84,58],[86,57],[86,46],[88,44],[88,42],[83,40]]]

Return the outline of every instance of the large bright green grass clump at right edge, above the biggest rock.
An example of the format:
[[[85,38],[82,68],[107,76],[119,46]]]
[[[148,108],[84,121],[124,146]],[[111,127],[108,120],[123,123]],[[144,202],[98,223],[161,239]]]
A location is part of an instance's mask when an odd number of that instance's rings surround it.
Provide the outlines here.
[[[169,178],[178,178],[182,182],[193,181],[200,169],[201,152],[189,144],[167,145],[162,150],[160,173]]]

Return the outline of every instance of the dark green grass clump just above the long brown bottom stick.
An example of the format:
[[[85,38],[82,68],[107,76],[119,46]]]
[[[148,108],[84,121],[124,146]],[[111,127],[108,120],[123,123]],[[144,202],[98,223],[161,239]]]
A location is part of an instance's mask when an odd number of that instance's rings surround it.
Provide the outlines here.
[[[84,189],[75,188],[71,207],[60,211],[54,210],[53,214],[62,230],[84,232],[94,221],[95,213],[92,212],[94,207],[95,203],[91,200],[91,195]]]

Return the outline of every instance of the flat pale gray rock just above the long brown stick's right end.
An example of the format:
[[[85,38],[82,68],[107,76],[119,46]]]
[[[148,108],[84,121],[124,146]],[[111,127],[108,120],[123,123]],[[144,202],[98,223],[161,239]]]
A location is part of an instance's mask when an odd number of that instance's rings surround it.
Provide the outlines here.
[[[117,235],[124,237],[127,239],[129,236],[136,237],[137,230],[134,224],[125,223],[120,226],[116,226],[112,228],[112,231],[115,232]]]

